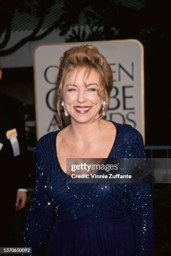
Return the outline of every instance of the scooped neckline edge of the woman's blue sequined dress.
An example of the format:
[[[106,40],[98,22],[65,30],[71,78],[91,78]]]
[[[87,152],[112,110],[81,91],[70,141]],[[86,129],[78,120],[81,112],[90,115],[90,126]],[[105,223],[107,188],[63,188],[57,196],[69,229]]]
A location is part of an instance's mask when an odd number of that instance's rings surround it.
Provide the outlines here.
[[[118,137],[118,126],[117,126],[117,123],[116,122],[114,122],[114,121],[111,121],[111,120],[108,120],[108,121],[110,121],[110,122],[112,122],[113,123],[113,125],[115,126],[115,128],[116,128],[116,135],[115,135],[115,139],[114,139],[114,141],[113,141],[113,146],[112,146],[112,148],[111,148],[111,150],[110,150],[110,152],[109,152],[109,154],[108,154],[108,157],[106,158],[106,159],[108,159],[110,156],[111,156],[111,153],[112,153],[112,151],[113,151],[113,147],[115,146],[115,144],[116,144],[116,139],[117,139],[117,137]],[[64,128],[64,127],[63,127]],[[62,129],[63,129],[62,128]],[[55,156],[54,156],[54,158],[56,159],[56,161],[57,161],[57,164],[58,164],[58,166],[59,166],[59,169],[60,169],[60,171],[63,173],[63,174],[65,174],[65,175],[68,175],[69,177],[70,177],[70,175],[69,174],[67,174],[66,172],[64,172],[63,171],[63,169],[61,168],[61,166],[60,166],[60,162],[59,162],[59,160],[58,160],[58,154],[57,154],[57,146],[56,146],[56,141],[57,141],[57,136],[58,136],[58,133],[62,130],[62,129],[60,129],[60,130],[58,130],[58,131],[56,131],[56,133],[55,133],[55,141],[54,141],[54,153],[55,153]]]

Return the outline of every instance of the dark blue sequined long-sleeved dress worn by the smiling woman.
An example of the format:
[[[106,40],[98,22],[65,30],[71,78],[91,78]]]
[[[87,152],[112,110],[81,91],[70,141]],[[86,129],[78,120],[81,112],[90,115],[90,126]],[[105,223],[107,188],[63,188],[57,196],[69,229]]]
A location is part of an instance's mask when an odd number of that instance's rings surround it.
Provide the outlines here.
[[[108,158],[145,157],[141,134],[131,125],[113,125],[117,133]],[[151,256],[150,185],[66,183],[56,154],[58,132],[40,138],[35,149],[36,187],[23,246],[39,256],[49,235],[47,256]]]

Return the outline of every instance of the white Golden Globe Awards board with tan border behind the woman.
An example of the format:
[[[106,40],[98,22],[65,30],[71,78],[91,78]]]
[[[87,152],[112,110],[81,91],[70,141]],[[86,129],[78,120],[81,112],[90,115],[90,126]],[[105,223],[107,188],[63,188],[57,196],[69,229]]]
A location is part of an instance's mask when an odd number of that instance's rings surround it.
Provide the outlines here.
[[[137,40],[43,44],[34,51],[37,138],[58,129],[56,79],[60,57],[72,46],[93,44],[113,70],[107,120],[127,123],[144,137],[143,46]]]

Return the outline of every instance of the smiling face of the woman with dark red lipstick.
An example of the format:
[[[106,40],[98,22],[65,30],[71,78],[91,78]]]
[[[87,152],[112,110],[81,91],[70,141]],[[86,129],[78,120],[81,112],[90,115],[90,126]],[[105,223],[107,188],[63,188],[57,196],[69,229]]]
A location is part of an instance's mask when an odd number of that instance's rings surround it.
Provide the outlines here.
[[[99,113],[103,100],[97,94],[99,74],[92,69],[90,76],[83,83],[85,69],[70,72],[66,75],[63,86],[63,101],[71,119],[79,123],[87,123]]]

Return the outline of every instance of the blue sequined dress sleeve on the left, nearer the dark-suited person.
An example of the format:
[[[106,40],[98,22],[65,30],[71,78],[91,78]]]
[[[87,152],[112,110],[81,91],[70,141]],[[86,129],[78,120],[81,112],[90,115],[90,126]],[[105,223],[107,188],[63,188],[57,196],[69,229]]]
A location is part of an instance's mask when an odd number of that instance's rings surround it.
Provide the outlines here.
[[[41,156],[38,141],[36,155],[36,186],[30,209],[26,218],[25,232],[23,233],[23,246],[32,247],[32,254],[41,255],[43,243],[53,220],[54,206],[46,190],[47,165]],[[43,154],[42,154],[43,155]]]

